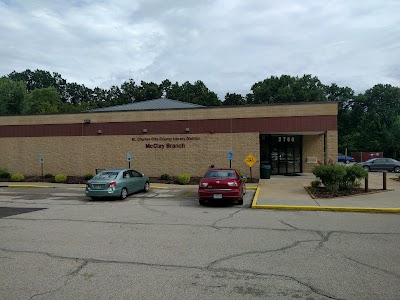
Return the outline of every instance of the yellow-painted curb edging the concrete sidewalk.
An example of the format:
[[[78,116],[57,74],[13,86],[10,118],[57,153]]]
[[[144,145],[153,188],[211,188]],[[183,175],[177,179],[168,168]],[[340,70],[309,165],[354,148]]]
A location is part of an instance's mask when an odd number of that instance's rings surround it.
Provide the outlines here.
[[[253,197],[251,208],[254,209],[276,209],[276,210],[308,210],[308,211],[341,211],[341,212],[364,212],[364,213],[400,213],[400,208],[378,208],[378,207],[342,207],[342,206],[296,206],[296,205],[258,205],[260,187],[257,187]]]

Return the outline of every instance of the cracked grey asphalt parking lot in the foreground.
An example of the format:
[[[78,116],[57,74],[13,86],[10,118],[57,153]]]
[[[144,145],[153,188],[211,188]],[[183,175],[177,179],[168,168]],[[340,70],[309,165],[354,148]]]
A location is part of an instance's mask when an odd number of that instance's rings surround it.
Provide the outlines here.
[[[0,188],[0,299],[398,299],[397,214]],[[248,197],[248,198],[247,198]]]

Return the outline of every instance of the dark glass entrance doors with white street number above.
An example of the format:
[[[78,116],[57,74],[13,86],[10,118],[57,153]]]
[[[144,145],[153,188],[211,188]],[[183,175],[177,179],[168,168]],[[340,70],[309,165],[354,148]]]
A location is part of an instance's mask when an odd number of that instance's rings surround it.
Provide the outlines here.
[[[301,135],[260,135],[260,163],[271,166],[271,175],[302,172]]]

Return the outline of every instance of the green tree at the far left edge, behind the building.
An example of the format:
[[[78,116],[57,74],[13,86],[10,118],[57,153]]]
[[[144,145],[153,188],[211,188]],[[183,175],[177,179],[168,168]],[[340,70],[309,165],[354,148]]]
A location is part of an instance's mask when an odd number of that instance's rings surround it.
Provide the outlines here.
[[[9,78],[0,78],[0,115],[18,115],[26,96],[26,86]]]

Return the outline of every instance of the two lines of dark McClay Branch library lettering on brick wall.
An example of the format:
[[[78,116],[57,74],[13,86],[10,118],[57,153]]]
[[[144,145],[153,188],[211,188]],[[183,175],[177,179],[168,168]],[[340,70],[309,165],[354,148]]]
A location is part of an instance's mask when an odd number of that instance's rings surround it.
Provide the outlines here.
[[[145,142],[146,149],[182,149],[186,147],[184,142],[199,141],[200,137],[135,137],[133,142]]]

